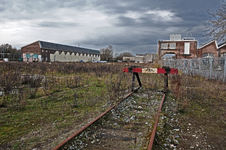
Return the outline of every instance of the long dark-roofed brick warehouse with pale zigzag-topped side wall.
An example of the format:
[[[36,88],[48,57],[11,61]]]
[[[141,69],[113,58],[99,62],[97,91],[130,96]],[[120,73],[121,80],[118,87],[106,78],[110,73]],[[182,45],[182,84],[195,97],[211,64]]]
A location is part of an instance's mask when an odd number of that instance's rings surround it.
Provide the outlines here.
[[[45,41],[21,47],[25,62],[92,62],[100,61],[100,51]]]

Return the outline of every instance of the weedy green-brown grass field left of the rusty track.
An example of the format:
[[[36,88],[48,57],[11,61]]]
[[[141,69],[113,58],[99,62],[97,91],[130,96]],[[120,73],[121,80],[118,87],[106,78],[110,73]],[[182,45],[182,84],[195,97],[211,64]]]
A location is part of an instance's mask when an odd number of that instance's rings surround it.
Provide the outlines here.
[[[0,149],[56,146],[130,90],[132,74],[122,72],[128,65],[2,63]],[[163,87],[159,79],[141,75],[152,89]]]

